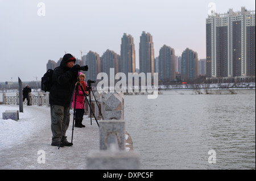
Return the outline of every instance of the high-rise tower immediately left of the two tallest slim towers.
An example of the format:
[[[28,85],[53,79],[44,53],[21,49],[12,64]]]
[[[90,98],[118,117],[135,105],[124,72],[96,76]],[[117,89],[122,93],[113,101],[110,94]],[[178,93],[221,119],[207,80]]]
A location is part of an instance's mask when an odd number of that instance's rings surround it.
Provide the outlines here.
[[[115,53],[112,50],[106,50],[106,52],[103,53],[101,56],[101,72],[104,72],[108,74],[108,77],[110,75],[110,68],[114,68],[114,74],[117,74],[119,72],[118,64],[120,61],[119,54]]]

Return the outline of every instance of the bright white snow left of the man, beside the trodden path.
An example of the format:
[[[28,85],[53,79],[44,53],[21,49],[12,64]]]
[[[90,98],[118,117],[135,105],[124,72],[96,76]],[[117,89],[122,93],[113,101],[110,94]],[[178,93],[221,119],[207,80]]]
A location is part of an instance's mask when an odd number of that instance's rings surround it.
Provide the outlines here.
[[[48,107],[27,107],[24,106],[23,112],[19,112],[19,120],[3,120],[2,112],[7,110],[19,110],[16,105],[0,105],[0,150],[12,148],[13,146],[25,143],[40,129],[49,127],[49,108]],[[49,138],[51,135],[49,135]]]

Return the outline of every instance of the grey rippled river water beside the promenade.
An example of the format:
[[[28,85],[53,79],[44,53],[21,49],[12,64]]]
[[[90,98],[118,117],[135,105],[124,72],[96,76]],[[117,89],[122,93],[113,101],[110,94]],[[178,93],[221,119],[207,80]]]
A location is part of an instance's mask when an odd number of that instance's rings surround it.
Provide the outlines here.
[[[255,169],[255,90],[162,93],[125,95],[141,169]]]

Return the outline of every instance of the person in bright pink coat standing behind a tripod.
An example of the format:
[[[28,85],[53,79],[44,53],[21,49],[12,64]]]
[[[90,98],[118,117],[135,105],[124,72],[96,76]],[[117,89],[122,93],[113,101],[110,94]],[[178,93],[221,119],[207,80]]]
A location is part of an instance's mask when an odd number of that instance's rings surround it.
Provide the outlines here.
[[[77,82],[78,83],[78,82]],[[82,124],[83,116],[84,116],[84,108],[85,108],[85,96],[82,92],[82,89],[84,90],[85,94],[89,94],[88,91],[88,86],[86,85],[85,82],[85,74],[79,73],[79,90],[76,94],[73,95],[73,102],[72,102],[72,107],[75,108],[75,127],[77,128],[82,128],[85,127],[85,125]],[[82,87],[82,89],[81,89]],[[76,98],[76,107],[75,107],[75,98]]]

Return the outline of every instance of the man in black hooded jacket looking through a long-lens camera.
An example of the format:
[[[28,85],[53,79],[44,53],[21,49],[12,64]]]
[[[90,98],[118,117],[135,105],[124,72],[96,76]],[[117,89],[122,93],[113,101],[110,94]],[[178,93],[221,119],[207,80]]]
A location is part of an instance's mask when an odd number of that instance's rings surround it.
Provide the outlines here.
[[[71,102],[72,93],[77,81],[79,66],[74,66],[76,58],[72,54],[65,54],[60,66],[52,74],[52,87],[49,93],[49,104],[51,104],[51,130],[52,146],[72,146],[67,141],[65,133],[68,129],[70,114],[68,108]],[[67,119],[67,121],[66,121]],[[65,124],[66,121],[66,124]],[[64,131],[63,128],[65,127]],[[63,137],[61,139],[61,133]]]

